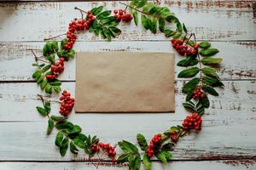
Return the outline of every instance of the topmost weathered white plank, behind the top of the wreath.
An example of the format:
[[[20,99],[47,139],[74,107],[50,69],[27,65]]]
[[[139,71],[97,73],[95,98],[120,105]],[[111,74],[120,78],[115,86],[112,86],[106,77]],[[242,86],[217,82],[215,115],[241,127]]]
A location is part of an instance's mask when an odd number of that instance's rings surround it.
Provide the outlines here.
[[[42,41],[67,31],[67,24],[80,17],[73,8],[85,10],[103,4],[106,8],[124,8],[119,2],[105,3],[1,3],[0,42]],[[162,2],[177,14],[198,39],[255,40],[255,8],[253,1],[198,1]],[[121,24],[123,33],[117,38],[127,40],[165,40],[162,34],[152,35],[141,26]],[[14,33],[15,32],[15,33]],[[82,41],[100,41],[101,38],[86,33]]]

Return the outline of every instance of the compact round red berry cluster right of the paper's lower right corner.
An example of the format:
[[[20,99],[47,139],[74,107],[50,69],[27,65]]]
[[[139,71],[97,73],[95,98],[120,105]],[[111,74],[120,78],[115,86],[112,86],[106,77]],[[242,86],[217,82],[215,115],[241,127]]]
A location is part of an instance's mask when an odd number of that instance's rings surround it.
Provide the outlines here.
[[[183,127],[186,130],[195,129],[201,130],[201,116],[197,115],[195,112],[191,116],[187,116],[183,121]]]

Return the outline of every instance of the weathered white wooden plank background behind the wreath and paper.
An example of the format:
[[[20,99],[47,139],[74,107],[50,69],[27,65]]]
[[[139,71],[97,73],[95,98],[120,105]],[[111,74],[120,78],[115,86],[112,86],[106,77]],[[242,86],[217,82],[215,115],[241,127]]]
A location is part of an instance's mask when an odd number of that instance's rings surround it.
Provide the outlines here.
[[[8,2],[8,1],[6,1]],[[92,162],[81,161],[67,152],[61,157],[54,145],[55,134],[46,136],[47,121],[38,115],[41,93],[32,81],[33,57],[38,54],[44,37],[67,31],[67,24],[79,17],[75,6],[90,9],[103,4],[122,8],[119,2],[30,2],[0,3],[0,169],[96,169]],[[224,63],[218,74],[225,88],[219,97],[210,97],[211,107],[203,117],[201,133],[181,139],[173,151],[173,161],[154,169],[256,169],[256,3],[251,0],[183,0],[162,1],[194,31],[200,40],[210,40],[219,48]],[[152,35],[131,26],[119,26],[122,34],[105,42],[89,32],[81,34],[77,51],[172,51],[170,42],[160,33]],[[181,59],[176,56],[176,61]],[[61,75],[62,88],[74,94],[75,61],[66,65]],[[176,67],[175,71],[180,71]],[[177,74],[176,74],[177,75]],[[116,144],[120,139],[136,141],[137,133],[151,139],[172,125],[180,124],[187,115],[183,110],[184,95],[177,79],[175,114],[71,114],[70,121],[83,127],[84,133],[96,134],[103,141]],[[57,97],[56,97],[57,98]],[[55,105],[54,111],[57,111]],[[56,133],[56,132],[54,132]],[[108,163],[108,162],[107,162]],[[99,167],[127,169],[127,167]]]

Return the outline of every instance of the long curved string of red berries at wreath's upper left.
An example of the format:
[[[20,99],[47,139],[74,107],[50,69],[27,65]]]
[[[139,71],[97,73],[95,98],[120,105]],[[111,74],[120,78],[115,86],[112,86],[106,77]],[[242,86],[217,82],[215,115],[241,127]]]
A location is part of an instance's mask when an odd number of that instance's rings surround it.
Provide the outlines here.
[[[74,42],[77,40],[77,36],[75,31],[84,31],[85,29],[89,29],[91,23],[95,20],[93,14],[90,11],[87,12],[86,20],[73,20],[69,23],[68,31],[67,31],[67,39],[68,42],[64,45],[64,48],[70,50],[73,48]]]

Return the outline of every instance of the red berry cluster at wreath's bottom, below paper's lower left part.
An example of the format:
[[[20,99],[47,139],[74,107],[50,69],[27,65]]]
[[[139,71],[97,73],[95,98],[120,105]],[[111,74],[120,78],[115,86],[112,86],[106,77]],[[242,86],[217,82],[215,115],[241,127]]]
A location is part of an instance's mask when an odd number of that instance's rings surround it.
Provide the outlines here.
[[[116,161],[115,159],[116,151],[114,150],[114,147],[112,145],[99,143],[99,144],[93,144],[91,146],[91,150],[95,150],[96,152],[100,151],[100,149],[106,150],[108,157],[111,157],[113,162]]]

